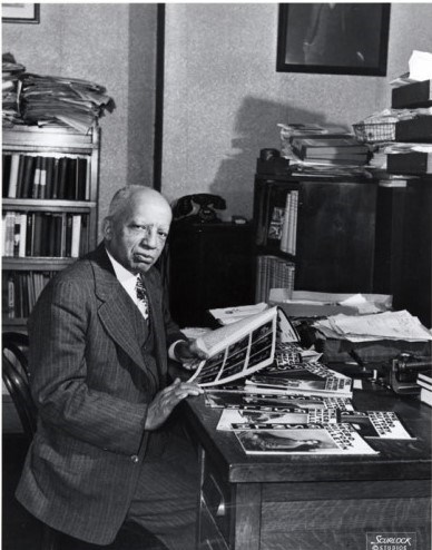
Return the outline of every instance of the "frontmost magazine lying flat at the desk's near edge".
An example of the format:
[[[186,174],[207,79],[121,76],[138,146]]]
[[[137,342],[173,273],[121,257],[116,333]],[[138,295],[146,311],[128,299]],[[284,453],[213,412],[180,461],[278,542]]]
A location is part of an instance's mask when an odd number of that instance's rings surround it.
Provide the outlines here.
[[[246,454],[377,454],[351,424],[234,424]]]

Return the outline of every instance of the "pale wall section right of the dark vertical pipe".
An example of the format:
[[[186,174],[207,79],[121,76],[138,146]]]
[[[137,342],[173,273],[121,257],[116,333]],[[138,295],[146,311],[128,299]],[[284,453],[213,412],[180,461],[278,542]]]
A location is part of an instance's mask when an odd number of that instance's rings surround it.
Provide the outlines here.
[[[252,216],[259,149],[279,147],[278,122],[345,127],[391,106],[390,80],[412,50],[432,51],[432,4],[391,6],[386,77],[276,72],[278,6],[166,7],[163,190],[207,191]]]

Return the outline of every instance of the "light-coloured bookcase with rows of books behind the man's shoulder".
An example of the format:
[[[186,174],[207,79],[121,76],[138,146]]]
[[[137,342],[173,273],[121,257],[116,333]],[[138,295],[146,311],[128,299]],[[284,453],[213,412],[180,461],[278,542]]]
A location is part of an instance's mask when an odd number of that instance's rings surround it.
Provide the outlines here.
[[[96,245],[99,135],[3,128],[3,331],[24,331],[48,281]]]

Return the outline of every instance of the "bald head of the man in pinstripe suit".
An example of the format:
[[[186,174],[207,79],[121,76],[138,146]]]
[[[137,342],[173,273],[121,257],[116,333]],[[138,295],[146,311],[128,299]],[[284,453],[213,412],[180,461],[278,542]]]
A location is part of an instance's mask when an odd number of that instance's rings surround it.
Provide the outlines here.
[[[129,206],[105,232],[109,253],[134,274],[147,272],[160,256],[171,223],[171,210],[163,197],[136,194]]]

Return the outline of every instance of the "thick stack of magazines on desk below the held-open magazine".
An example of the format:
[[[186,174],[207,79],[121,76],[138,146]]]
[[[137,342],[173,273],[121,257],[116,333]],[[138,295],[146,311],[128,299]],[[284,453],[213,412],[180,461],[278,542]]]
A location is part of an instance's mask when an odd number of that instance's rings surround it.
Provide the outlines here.
[[[259,392],[271,389],[273,392],[305,392],[346,397],[353,394],[351,377],[318,362],[271,366],[247,379],[246,386],[255,386]]]

